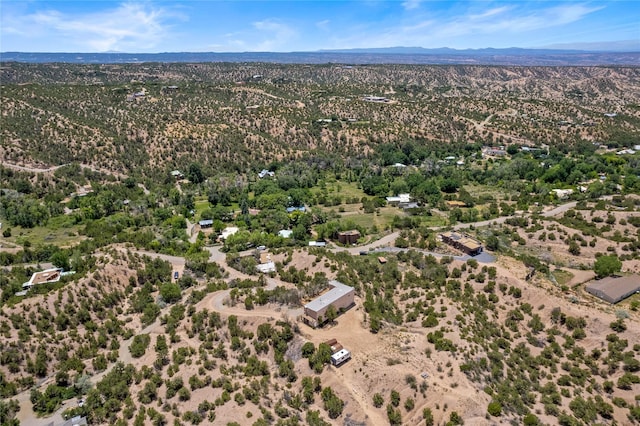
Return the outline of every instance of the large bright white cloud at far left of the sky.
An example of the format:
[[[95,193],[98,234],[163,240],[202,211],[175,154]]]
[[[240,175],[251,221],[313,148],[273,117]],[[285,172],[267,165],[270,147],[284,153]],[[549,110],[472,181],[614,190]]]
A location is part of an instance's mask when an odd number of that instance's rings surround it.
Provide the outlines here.
[[[148,3],[122,3],[112,9],[83,14],[41,10],[3,19],[3,23],[9,21],[7,26],[14,34],[55,42],[58,50],[139,52],[167,39],[172,19],[185,18]]]

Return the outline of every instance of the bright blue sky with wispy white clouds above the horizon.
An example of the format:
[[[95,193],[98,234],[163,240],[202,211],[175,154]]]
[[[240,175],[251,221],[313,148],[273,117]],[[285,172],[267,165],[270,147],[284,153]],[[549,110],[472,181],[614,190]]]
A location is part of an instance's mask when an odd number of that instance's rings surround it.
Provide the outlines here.
[[[0,0],[5,52],[598,48],[620,41],[640,51],[640,0]]]

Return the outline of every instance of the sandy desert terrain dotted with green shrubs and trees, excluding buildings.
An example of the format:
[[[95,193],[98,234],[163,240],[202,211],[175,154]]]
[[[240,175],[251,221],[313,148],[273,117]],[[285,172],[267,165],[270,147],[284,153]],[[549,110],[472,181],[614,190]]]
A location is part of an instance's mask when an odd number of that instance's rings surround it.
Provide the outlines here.
[[[637,300],[606,311],[576,284],[639,259],[637,155],[615,154],[637,141],[635,68],[0,73],[0,423],[28,392],[101,424],[462,424],[441,387],[511,424],[640,421]],[[387,203],[404,193],[417,206]],[[460,224],[500,261],[439,241]],[[17,296],[47,263],[74,274]],[[297,322],[334,278],[357,306]],[[356,348],[340,367],[331,333]]]

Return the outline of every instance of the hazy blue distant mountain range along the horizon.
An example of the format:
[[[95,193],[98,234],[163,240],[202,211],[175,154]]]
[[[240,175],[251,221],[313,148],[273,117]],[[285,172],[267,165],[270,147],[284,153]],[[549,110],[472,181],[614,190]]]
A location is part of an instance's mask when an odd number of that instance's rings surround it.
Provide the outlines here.
[[[316,52],[166,52],[166,53],[28,53],[3,52],[0,61],[27,63],[140,63],[140,62],[270,62],[338,64],[464,64],[464,65],[633,65],[640,66],[640,51],[588,51],[575,49],[425,49],[388,47],[320,50]]]

